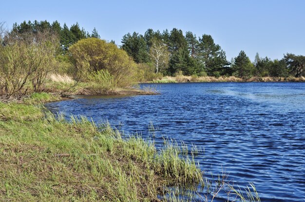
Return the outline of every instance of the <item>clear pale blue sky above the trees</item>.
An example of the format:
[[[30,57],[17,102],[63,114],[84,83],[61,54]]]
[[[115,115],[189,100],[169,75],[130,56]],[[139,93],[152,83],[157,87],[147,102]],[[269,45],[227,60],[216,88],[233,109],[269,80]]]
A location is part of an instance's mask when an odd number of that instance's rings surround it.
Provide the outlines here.
[[[172,28],[210,34],[230,61],[244,50],[251,61],[305,55],[305,0],[0,0],[0,21],[57,20],[96,28],[121,45],[123,35]]]

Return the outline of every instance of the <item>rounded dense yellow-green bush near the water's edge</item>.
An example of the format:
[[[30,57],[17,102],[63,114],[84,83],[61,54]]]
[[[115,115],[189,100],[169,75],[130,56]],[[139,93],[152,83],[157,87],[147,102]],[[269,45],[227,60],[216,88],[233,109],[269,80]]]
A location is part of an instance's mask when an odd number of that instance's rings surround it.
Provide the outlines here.
[[[124,50],[98,38],[87,38],[70,47],[71,59],[76,67],[76,79],[88,81],[88,75],[107,70],[115,86],[127,87],[135,82],[136,65]]]

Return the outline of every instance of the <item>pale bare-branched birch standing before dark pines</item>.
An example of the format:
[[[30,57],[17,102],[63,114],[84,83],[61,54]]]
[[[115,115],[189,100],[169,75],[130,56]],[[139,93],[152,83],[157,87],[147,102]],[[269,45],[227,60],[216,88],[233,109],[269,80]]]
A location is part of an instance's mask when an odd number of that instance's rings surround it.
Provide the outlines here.
[[[169,62],[169,51],[167,45],[160,40],[153,40],[150,49],[150,56],[156,69],[156,73],[160,68],[165,67]]]

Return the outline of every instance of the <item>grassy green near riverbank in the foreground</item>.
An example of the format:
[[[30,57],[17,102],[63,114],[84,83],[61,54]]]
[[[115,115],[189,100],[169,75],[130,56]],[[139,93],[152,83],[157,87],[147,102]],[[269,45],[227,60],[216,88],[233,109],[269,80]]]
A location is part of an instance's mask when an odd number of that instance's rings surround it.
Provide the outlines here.
[[[170,143],[157,152],[107,123],[71,120],[0,102],[0,201],[158,201],[164,186],[202,181]]]

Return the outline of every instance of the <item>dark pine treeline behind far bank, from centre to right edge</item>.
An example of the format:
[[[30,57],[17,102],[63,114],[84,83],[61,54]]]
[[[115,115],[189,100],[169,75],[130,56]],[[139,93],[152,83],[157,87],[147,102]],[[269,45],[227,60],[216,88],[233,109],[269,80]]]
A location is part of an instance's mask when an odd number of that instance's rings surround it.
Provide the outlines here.
[[[246,53],[229,62],[226,52],[215,44],[211,35],[196,37],[191,32],[183,34],[176,28],[171,32],[148,29],[144,35],[125,34],[121,48],[136,63],[148,63],[155,72],[163,75],[181,74],[197,76],[288,77],[304,76],[305,56],[287,53],[281,60],[261,58],[258,53],[252,63]]]

